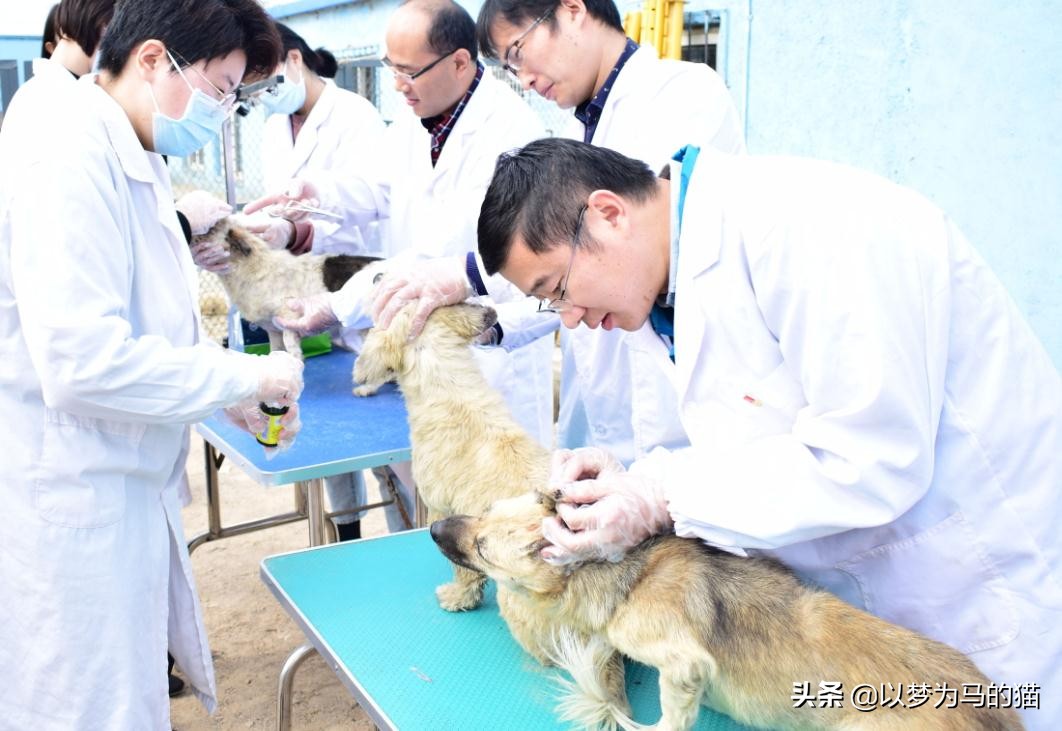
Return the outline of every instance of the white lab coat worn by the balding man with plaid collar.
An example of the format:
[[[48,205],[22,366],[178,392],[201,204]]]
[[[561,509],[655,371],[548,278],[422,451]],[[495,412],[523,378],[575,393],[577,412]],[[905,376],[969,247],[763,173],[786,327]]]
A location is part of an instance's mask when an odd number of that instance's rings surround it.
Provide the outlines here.
[[[379,185],[389,205],[373,208],[371,182],[343,180],[332,171],[333,187],[324,203],[343,210],[360,211],[362,220],[390,217],[386,255],[411,261],[422,257],[462,255],[476,243],[479,208],[502,152],[542,137],[534,113],[490,71],[483,78],[431,166],[431,136],[414,115],[405,112],[388,130],[388,170]],[[355,277],[333,296],[333,308],[347,326],[367,326],[365,296],[370,277]],[[499,322],[506,330],[525,330],[543,317],[536,303],[515,288],[496,300]],[[554,325],[555,326],[555,325]],[[516,420],[544,445],[551,446],[553,396],[552,337],[538,337],[523,347],[476,348],[477,360],[487,380],[498,389]]]

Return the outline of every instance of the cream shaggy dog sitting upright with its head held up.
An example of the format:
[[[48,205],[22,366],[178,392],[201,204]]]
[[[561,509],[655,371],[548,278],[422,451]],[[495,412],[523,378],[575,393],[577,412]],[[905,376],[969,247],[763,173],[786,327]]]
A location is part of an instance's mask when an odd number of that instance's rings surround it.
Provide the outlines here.
[[[386,330],[373,329],[354,367],[355,389],[369,395],[397,380],[409,412],[413,479],[428,520],[479,514],[495,500],[546,486],[549,454],[516,423],[504,401],[486,382],[470,343],[497,320],[478,305],[436,309],[412,342],[413,307]],[[453,567],[453,581],[435,594],[443,609],[477,607],[485,577]]]

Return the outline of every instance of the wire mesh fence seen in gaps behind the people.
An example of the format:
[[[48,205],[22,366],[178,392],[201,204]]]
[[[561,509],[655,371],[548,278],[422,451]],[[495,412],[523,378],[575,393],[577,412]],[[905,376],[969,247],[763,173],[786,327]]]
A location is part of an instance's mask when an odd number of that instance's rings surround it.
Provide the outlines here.
[[[391,72],[381,64],[377,47],[350,48],[336,54],[339,72],[336,84],[360,94],[379,110],[384,121],[391,123],[401,109],[401,96],[394,88]],[[489,65],[487,72],[508,83],[541,117],[546,134],[555,136],[570,118],[569,113],[558,108],[541,97],[520,89],[519,83],[504,69]],[[228,133],[230,158],[226,166],[226,146],[223,133],[218,139],[193,155],[170,160],[173,192],[179,198],[191,190],[206,190],[219,198],[235,201],[242,207],[250,201],[269,192],[264,189],[262,163],[263,130],[266,116],[260,107],[233,117]],[[217,275],[200,271],[200,308],[207,335],[219,342],[227,333],[229,303]]]

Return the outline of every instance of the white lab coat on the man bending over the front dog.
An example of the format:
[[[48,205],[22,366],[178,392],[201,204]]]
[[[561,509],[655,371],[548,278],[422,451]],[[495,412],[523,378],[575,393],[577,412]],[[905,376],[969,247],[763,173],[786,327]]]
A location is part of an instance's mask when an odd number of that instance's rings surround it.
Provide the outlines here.
[[[955,225],[869,173],[702,151],[674,330],[692,445],[632,470],[676,532],[1039,683],[1028,728],[1062,728],[1062,380]]]

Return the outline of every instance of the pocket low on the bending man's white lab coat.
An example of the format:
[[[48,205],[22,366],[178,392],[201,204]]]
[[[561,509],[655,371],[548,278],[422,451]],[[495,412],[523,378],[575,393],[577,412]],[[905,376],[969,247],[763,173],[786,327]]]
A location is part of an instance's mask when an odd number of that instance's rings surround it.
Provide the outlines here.
[[[1006,581],[962,513],[837,564],[859,584],[867,611],[961,652],[1017,636]]]

